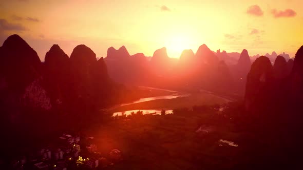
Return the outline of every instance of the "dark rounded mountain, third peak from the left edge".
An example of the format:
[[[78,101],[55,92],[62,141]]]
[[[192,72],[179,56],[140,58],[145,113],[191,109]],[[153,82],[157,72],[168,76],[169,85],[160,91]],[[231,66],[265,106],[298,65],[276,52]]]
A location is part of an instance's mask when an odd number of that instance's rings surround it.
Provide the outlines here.
[[[85,45],[75,47],[70,55],[71,84],[70,91],[74,104],[83,110],[104,107],[110,98],[106,97],[116,88],[107,74],[103,57],[97,61],[96,54]]]

